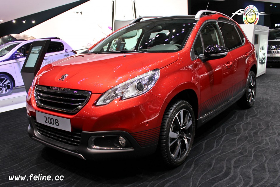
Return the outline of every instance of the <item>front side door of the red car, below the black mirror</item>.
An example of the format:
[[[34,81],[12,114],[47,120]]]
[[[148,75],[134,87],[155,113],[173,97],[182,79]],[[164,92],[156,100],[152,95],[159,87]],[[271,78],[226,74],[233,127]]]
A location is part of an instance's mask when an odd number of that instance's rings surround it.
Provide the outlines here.
[[[227,56],[202,62],[204,50],[209,45],[224,46],[224,42],[216,22],[207,22],[200,30],[193,45],[195,63],[200,83],[201,116],[214,111],[232,98],[233,68],[232,58]]]

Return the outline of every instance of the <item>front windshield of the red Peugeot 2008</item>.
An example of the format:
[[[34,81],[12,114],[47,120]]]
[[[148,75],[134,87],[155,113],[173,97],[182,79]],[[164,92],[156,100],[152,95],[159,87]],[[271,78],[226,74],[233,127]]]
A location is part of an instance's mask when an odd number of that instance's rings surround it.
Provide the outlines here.
[[[196,20],[187,18],[138,22],[112,34],[85,53],[179,51],[195,23]]]

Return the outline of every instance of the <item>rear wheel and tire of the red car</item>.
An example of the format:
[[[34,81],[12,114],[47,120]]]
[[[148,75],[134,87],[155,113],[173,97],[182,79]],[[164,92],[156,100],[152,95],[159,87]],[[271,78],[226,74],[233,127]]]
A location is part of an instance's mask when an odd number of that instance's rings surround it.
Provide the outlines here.
[[[257,91],[256,75],[253,71],[250,71],[247,77],[245,93],[237,101],[239,107],[246,109],[254,106],[256,101],[256,93],[257,93],[256,91]]]

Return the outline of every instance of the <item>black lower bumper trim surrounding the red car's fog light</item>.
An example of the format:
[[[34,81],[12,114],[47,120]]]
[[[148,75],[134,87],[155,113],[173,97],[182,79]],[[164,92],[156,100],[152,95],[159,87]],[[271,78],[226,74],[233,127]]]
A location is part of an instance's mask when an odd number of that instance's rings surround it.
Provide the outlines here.
[[[112,158],[127,158],[127,157],[142,157],[155,152],[157,145],[141,147],[135,138],[125,131],[99,131],[99,132],[88,132],[81,131],[80,143],[77,146],[67,145],[59,141],[44,136],[38,132],[36,127],[36,120],[28,116],[29,127],[28,134],[34,141],[40,142],[41,144],[59,150],[63,153],[79,157],[84,160],[106,160]],[[89,148],[88,142],[92,136],[112,136],[121,135],[125,136],[130,142],[132,148],[126,149],[92,149]]]

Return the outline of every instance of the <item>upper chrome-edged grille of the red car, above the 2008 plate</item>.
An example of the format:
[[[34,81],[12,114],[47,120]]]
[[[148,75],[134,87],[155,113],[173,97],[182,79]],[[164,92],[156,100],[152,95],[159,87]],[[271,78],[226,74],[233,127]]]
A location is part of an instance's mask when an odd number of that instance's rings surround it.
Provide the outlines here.
[[[38,107],[76,113],[89,100],[90,91],[36,85],[35,101]]]

